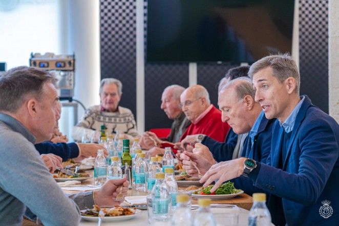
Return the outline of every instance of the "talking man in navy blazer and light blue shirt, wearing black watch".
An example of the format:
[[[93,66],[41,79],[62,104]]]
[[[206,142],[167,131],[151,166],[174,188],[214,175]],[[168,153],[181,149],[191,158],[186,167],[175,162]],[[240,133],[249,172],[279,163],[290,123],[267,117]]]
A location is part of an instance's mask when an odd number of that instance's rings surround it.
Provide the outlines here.
[[[287,54],[264,57],[249,70],[256,101],[267,118],[278,118],[272,130],[267,164],[239,158],[211,167],[204,187],[249,177],[269,192],[267,206],[276,225],[337,225],[339,222],[339,125],[299,96],[300,75]]]

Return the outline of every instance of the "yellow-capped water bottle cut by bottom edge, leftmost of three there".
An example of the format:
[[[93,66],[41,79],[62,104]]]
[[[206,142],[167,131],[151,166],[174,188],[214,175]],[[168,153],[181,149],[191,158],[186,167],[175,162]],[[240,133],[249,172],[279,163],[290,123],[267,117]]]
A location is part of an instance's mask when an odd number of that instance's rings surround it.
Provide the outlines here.
[[[179,194],[177,196],[177,207],[172,217],[173,226],[189,226],[193,223],[192,213],[190,211],[189,196]]]

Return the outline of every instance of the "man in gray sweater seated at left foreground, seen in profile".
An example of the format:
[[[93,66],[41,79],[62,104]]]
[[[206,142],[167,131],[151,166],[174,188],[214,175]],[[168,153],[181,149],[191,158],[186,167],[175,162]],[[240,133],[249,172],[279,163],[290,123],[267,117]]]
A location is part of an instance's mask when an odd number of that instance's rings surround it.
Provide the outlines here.
[[[22,225],[27,208],[46,225],[78,225],[80,209],[114,206],[125,179],[95,192],[67,197],[41,161],[34,144],[51,138],[59,98],[48,72],[17,67],[0,76],[0,222]],[[30,215],[31,216],[31,215]]]

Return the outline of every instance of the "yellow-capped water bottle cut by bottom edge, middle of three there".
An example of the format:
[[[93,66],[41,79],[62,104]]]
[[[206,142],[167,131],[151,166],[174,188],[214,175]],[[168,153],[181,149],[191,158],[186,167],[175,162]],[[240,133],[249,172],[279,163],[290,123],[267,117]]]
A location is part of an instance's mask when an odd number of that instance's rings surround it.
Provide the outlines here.
[[[213,214],[210,212],[210,199],[202,198],[198,200],[199,210],[194,219],[194,226],[215,226],[217,225]]]

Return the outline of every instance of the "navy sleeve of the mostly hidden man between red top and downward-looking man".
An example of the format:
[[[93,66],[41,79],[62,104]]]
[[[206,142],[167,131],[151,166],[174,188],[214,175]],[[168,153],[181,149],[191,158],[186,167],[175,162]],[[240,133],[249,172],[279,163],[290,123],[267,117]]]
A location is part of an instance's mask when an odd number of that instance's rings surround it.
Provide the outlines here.
[[[238,134],[233,132],[232,128],[229,129],[225,142],[219,142],[208,136],[205,136],[201,141],[209,151],[213,154],[214,159],[217,162],[226,161],[232,159],[233,151],[237,145]]]

